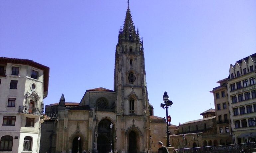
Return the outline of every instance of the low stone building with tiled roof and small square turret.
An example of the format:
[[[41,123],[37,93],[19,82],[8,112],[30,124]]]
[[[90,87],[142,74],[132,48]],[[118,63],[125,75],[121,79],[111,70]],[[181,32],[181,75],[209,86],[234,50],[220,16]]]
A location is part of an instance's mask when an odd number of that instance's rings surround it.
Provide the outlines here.
[[[171,145],[176,149],[224,145],[232,139],[217,136],[215,110],[209,109],[200,115],[202,119],[180,124],[175,134],[170,135]]]

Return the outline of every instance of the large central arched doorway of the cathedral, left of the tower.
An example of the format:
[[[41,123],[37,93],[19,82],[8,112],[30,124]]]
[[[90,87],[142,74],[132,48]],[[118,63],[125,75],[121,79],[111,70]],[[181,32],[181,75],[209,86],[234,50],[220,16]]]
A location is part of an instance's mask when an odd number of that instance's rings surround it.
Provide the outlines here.
[[[110,125],[111,121],[108,119],[103,119],[98,124],[98,138],[97,138],[97,150],[98,153],[108,153],[110,152],[110,135],[112,137],[112,152],[115,148],[114,143],[114,126],[112,128],[112,134],[110,134]]]

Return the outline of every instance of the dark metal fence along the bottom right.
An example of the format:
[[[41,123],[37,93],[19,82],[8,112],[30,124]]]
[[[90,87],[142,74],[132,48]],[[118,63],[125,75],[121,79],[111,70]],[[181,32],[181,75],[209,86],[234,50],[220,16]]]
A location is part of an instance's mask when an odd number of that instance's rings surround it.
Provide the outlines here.
[[[256,152],[256,142],[175,150],[178,153],[252,153]]]

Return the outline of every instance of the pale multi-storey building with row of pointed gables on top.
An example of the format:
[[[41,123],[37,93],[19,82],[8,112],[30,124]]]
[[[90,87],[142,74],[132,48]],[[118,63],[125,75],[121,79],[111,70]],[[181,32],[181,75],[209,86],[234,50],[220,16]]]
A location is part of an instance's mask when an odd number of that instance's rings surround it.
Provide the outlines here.
[[[227,96],[235,143],[256,142],[256,53],[230,65]]]

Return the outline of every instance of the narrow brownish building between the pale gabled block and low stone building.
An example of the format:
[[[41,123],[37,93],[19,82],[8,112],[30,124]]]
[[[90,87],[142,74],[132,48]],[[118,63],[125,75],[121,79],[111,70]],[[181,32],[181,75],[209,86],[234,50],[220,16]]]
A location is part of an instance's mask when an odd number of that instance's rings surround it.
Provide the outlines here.
[[[213,88],[215,113],[216,113],[216,137],[221,137],[224,142],[222,144],[233,144],[231,133],[231,122],[228,105],[227,78],[217,81],[220,86]],[[229,140],[232,139],[232,142]]]

